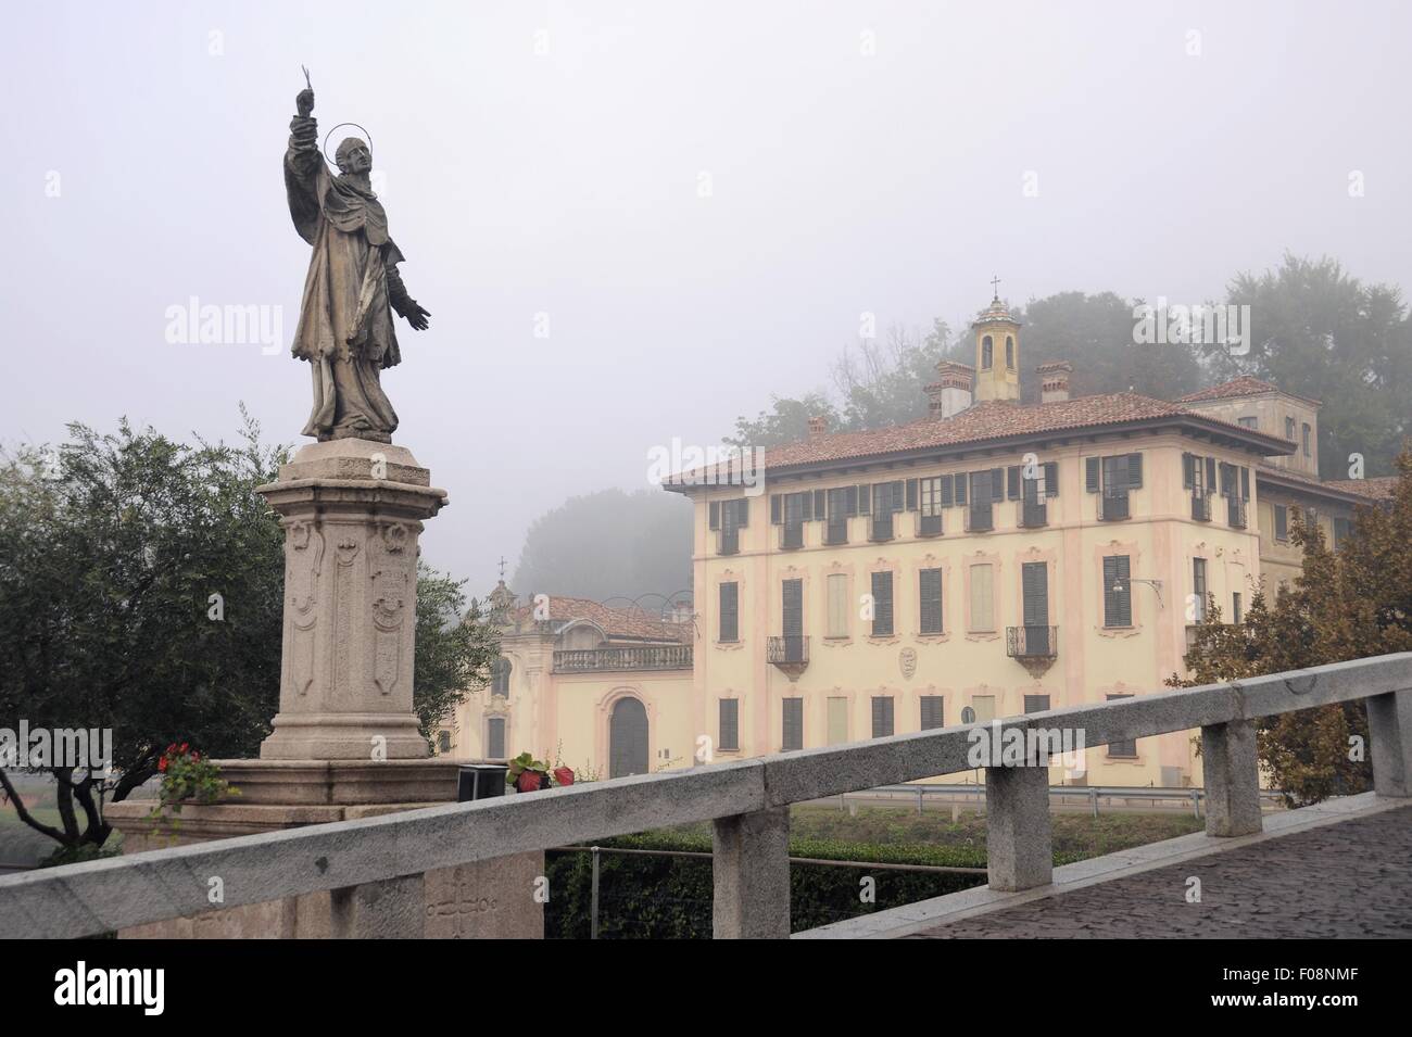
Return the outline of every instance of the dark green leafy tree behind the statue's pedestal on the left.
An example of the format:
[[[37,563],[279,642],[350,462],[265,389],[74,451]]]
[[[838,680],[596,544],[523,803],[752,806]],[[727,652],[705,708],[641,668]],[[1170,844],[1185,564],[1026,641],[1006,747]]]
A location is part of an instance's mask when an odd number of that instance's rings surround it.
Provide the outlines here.
[[[253,491],[285,453],[247,418],[237,446],[71,425],[62,446],[0,460],[0,725],[113,731],[110,773],[44,769],[58,783],[58,827],[30,817],[0,769],[21,818],[69,855],[104,842],[104,803],[157,773],[167,745],[244,758],[270,734],[284,533]],[[424,578],[425,731],[428,714],[489,676],[494,653],[453,622],[459,584]]]

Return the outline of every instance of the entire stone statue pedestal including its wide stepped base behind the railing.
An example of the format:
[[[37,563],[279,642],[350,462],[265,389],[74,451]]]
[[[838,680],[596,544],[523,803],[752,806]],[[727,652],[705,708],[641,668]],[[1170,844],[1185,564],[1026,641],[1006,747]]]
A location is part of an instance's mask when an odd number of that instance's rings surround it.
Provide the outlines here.
[[[240,790],[184,807],[176,823],[148,820],[152,801],[107,808],[133,854],[415,810],[456,799],[455,760],[429,759],[412,710],[417,646],[417,540],[446,505],[405,447],[357,439],[305,446],[257,491],[285,529],[280,712],[260,759],[222,760]],[[347,849],[357,852],[357,845]],[[421,889],[425,917],[401,911],[400,934],[544,935],[534,880],[544,854],[520,854],[394,882]],[[390,876],[397,879],[397,876]],[[364,890],[366,892],[366,890]],[[385,890],[384,890],[385,893]],[[126,930],[123,937],[330,937],[364,926],[354,890],[219,909]],[[360,921],[363,918],[363,921]]]

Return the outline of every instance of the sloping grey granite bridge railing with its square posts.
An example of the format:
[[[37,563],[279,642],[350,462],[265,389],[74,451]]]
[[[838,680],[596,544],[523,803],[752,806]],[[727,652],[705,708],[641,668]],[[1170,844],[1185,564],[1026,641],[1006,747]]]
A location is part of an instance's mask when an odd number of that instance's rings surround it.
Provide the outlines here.
[[[201,842],[0,878],[0,933],[80,937],[225,907],[332,890],[337,935],[421,935],[422,875],[569,842],[666,825],[714,825],[714,921],[720,937],[789,934],[789,804],[986,766],[990,886],[1051,880],[1049,770],[1029,741],[1082,731],[1086,746],[1202,731],[1206,831],[1261,828],[1255,721],[1313,705],[1367,700],[1374,787],[1412,793],[1412,652],[1231,684],[1161,691],[1093,705],[851,745],[802,749],[690,770],[576,784],[356,821]],[[998,732],[998,738],[995,738]],[[1010,734],[1017,732],[1017,734]],[[1015,741],[1022,759],[1003,752]]]

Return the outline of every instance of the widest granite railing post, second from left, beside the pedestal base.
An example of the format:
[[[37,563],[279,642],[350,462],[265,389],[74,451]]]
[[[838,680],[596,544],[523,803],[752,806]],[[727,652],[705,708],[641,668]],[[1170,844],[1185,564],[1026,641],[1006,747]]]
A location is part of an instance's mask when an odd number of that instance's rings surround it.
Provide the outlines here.
[[[716,940],[789,938],[789,807],[713,823]]]

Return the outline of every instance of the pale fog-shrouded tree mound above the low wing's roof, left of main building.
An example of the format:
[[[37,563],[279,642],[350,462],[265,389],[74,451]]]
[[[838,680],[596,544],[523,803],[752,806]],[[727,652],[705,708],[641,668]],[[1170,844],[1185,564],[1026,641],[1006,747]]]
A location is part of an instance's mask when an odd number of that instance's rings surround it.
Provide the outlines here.
[[[692,508],[662,490],[570,497],[525,535],[511,586],[606,601],[671,595],[692,583]]]

